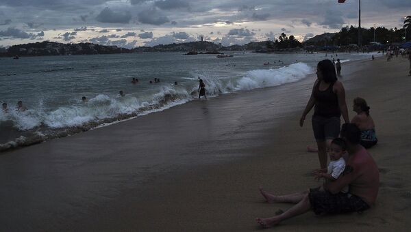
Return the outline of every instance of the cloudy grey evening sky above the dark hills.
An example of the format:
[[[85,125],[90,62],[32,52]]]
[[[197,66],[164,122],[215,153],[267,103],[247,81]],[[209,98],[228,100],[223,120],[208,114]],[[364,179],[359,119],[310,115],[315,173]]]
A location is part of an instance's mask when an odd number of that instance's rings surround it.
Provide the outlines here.
[[[402,27],[410,0],[363,0],[362,27]],[[0,0],[0,46],[93,42],[127,48],[299,40],[358,25],[358,0]]]

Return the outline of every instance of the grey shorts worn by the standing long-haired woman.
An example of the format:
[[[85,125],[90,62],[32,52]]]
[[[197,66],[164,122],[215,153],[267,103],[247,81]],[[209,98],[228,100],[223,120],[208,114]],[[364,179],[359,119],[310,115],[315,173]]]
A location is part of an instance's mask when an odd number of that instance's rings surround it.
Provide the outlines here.
[[[336,139],[340,134],[340,117],[313,115],[311,123],[316,140]]]

